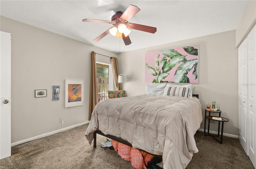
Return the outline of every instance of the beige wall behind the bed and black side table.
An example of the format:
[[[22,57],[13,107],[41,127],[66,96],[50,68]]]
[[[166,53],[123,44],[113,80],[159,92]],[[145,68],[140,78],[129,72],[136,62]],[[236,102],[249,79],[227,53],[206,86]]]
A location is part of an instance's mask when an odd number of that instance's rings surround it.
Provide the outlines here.
[[[222,116],[230,121],[224,125],[224,133],[238,135],[238,50],[235,30],[212,34],[179,42],[124,52],[118,58],[119,72],[126,74],[123,84],[126,95],[145,93],[144,82],[145,53],[180,46],[199,45],[198,84],[193,93],[199,94],[203,108],[212,100],[222,110]],[[204,128],[204,122],[201,129]],[[211,130],[218,131],[217,123],[211,123]]]

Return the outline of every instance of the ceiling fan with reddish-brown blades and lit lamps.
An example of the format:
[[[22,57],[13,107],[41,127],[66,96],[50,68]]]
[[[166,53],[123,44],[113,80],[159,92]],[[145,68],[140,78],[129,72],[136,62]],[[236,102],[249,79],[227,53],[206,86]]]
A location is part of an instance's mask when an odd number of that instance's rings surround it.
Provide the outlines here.
[[[140,24],[134,24],[128,22],[130,18],[132,18],[135,14],[137,14],[140,11],[140,8],[134,5],[128,6],[128,8],[123,12],[116,12],[111,18],[111,21],[107,20],[96,20],[96,19],[83,19],[83,22],[98,22],[98,23],[106,23],[106,24],[112,24],[111,28],[103,32],[100,36],[95,38],[93,41],[98,42],[102,38],[104,38],[107,34],[111,33],[113,36],[116,36],[118,38],[122,38],[124,40],[125,45],[130,45],[132,42],[129,38],[129,33],[131,30],[127,29],[135,29],[135,30],[140,30],[144,32],[149,32],[154,34],[156,32],[155,27],[151,26],[145,26],[145,25],[140,25]]]

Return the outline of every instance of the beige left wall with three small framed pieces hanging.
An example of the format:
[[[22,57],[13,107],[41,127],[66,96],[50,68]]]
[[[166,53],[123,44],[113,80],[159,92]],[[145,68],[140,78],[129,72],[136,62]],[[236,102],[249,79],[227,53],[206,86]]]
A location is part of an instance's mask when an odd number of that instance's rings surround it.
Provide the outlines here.
[[[12,34],[12,143],[88,121],[91,52],[116,54],[2,16],[1,31]],[[64,107],[65,79],[84,80],[84,105]],[[52,85],[60,85],[58,101]]]

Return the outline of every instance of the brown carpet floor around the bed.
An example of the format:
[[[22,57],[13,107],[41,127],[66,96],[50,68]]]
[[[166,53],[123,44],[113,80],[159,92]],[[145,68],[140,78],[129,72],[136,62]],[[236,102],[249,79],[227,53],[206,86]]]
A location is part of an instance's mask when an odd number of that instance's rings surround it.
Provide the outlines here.
[[[109,148],[100,147],[106,137],[97,135],[97,147],[89,145],[82,125],[47,137],[15,145],[12,155],[0,160],[1,169],[134,169]],[[199,149],[186,169],[254,169],[238,139],[223,137],[220,144],[196,132]],[[202,139],[201,139],[202,137]]]

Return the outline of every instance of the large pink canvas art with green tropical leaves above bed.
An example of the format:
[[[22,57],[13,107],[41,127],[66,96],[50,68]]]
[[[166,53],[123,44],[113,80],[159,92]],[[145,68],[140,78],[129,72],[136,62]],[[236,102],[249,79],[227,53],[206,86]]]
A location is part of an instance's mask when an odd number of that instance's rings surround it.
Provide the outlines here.
[[[145,54],[145,83],[198,83],[198,44]]]

